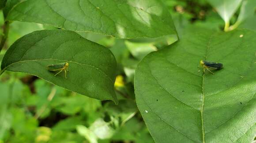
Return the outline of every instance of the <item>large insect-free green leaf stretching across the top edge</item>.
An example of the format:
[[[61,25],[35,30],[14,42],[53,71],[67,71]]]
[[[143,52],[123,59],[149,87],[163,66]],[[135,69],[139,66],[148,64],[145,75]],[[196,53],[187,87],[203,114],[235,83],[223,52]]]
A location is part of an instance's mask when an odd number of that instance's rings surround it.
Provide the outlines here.
[[[27,0],[8,21],[28,21],[116,38],[156,38],[176,34],[160,0]]]

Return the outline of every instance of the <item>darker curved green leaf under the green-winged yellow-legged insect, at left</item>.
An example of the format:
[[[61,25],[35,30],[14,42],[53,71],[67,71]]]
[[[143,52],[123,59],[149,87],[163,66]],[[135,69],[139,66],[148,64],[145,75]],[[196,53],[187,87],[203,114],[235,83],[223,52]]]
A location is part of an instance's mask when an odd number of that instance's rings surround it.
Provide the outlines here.
[[[56,76],[47,66],[68,62],[64,73]],[[26,72],[68,90],[99,100],[113,100],[116,61],[104,46],[90,42],[75,32],[42,30],[17,40],[4,55],[1,72]]]

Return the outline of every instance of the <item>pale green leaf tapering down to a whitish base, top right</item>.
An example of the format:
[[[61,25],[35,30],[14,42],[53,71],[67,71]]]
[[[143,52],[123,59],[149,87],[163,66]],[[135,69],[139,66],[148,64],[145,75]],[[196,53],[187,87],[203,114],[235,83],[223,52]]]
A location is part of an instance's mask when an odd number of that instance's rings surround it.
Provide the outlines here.
[[[207,0],[212,7],[216,8],[218,14],[225,21],[228,28],[230,18],[237,11],[242,0]],[[225,27],[226,27],[225,26]]]

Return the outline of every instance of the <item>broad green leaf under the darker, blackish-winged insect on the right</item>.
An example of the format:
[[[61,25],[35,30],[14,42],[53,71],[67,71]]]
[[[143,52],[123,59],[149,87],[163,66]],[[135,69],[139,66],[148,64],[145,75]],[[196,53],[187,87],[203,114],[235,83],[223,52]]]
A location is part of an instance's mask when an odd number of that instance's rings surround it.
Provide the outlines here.
[[[202,31],[202,30],[201,30]],[[188,33],[141,61],[136,102],[157,143],[250,143],[256,132],[256,32]],[[202,73],[200,60],[224,68]]]

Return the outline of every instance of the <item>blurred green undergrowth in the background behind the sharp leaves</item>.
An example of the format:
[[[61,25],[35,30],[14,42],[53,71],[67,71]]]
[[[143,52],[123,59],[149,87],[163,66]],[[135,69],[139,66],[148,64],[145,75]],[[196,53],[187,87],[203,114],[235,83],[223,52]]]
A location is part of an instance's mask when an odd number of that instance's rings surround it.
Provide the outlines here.
[[[206,0],[163,0],[172,14],[179,36],[185,27],[222,30],[224,21]],[[231,19],[234,24],[239,11]],[[0,14],[0,25],[4,23]],[[255,29],[256,14],[241,23]],[[55,29],[36,23],[12,22],[4,49],[30,32]],[[0,30],[2,34],[2,29]],[[162,49],[165,43],[147,39],[114,39],[92,33],[79,34],[108,47],[117,59],[116,93],[119,105],[95,100],[24,73],[5,72],[0,77],[0,143],[151,143],[138,112],[133,88],[137,64],[145,55]],[[177,40],[169,39],[170,43]],[[0,53],[0,61],[5,50]],[[29,67],[28,67],[29,68]]]

